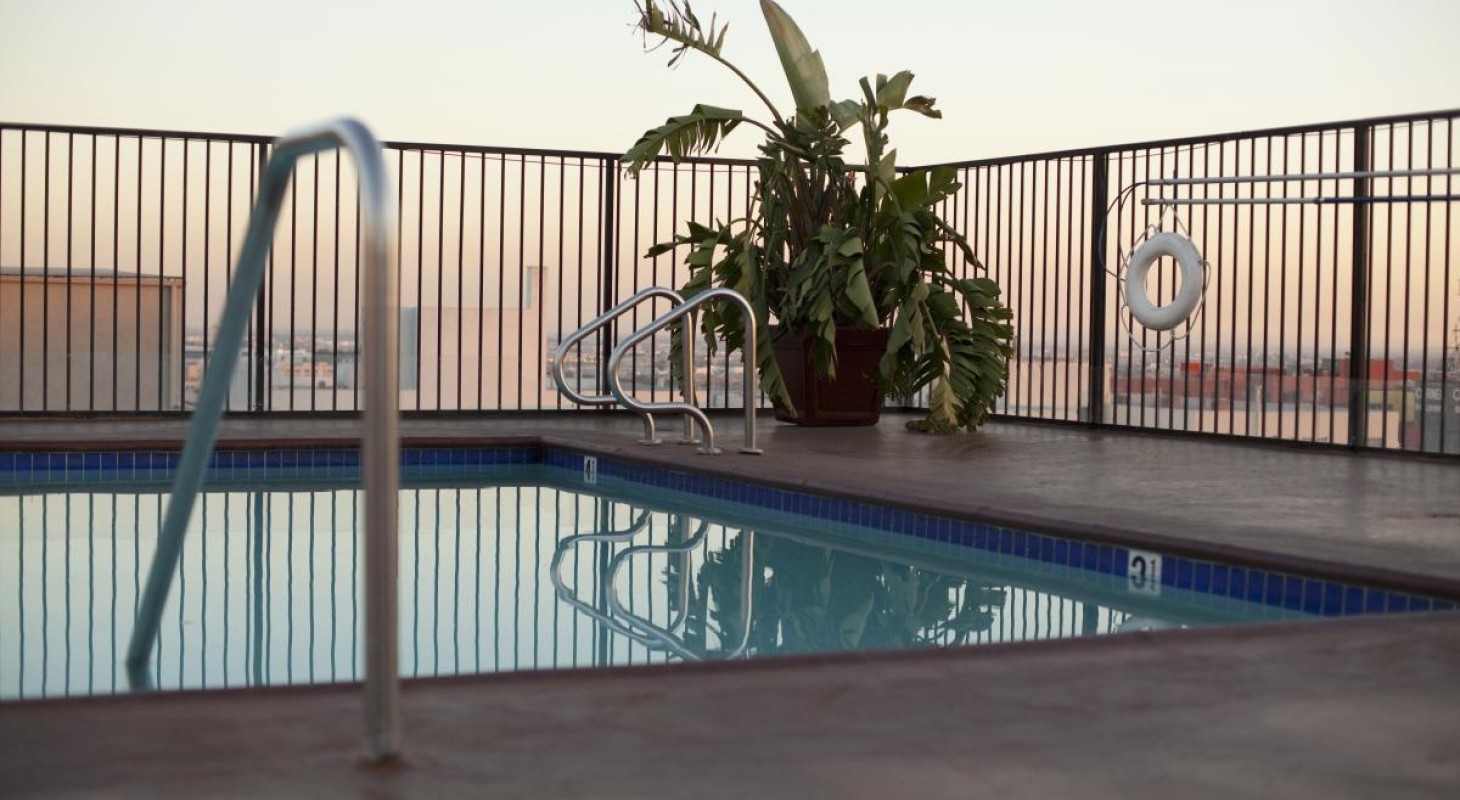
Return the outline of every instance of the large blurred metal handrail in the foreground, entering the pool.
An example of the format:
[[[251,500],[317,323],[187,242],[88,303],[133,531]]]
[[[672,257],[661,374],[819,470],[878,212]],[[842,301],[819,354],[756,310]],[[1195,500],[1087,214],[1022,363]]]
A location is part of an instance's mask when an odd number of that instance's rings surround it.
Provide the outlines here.
[[[355,156],[361,190],[362,242],[362,359],[365,420],[361,466],[365,483],[365,750],[375,761],[400,750],[400,664],[397,644],[397,492],[400,486],[399,387],[400,321],[396,289],[394,201],[388,190],[380,142],[355,120],[331,120],[296,130],[274,142],[258,185],[258,201],[238,255],[238,270],[228,292],[218,330],[216,358],[203,378],[197,410],[188,426],[172,496],[158,534],[158,549],[147,569],[147,584],[127,645],[127,672],[134,688],[149,688],[147,663],[158,638],[182,552],[193,504],[218,441],[228,384],[238,362],[248,314],[263,286],[264,261],[283,207],[295,162],[330,150]]]

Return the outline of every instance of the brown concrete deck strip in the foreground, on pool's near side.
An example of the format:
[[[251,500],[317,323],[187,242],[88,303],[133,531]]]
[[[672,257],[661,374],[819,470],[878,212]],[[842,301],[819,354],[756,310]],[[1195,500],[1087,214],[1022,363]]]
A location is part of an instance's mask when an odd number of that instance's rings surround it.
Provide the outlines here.
[[[1460,615],[0,705],[7,797],[1453,797]]]

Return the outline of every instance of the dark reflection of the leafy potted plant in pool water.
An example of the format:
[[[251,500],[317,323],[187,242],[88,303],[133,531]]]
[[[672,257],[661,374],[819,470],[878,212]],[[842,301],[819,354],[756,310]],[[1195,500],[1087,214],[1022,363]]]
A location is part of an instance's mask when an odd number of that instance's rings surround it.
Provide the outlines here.
[[[743,542],[733,537],[699,568],[685,631],[696,651],[711,631],[739,641]],[[750,647],[761,655],[967,644],[1004,604],[997,587],[775,536],[756,539],[755,561],[768,574],[752,616]],[[669,578],[689,577],[672,565]]]

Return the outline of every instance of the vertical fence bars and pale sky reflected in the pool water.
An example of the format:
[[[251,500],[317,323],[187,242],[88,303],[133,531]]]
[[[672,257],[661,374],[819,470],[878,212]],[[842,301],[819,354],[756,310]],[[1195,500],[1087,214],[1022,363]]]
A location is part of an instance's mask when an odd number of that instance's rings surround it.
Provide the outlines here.
[[[107,693],[126,689],[120,670],[136,613],[142,566],[161,524],[161,492],[29,493],[0,498],[0,698]],[[158,680],[174,688],[308,683],[359,677],[362,609],[355,587],[361,555],[358,493],[220,491],[204,493],[182,552],[177,591],[164,613]],[[634,508],[612,504],[607,520],[591,496],[530,486],[406,489],[402,508],[400,596],[403,672],[412,676],[518,669],[661,663],[660,651],[607,634],[553,593],[546,564],[564,536],[623,523]],[[642,540],[663,543],[676,527],[651,515]],[[720,647],[733,593],[715,574],[733,561],[740,531],[710,526],[691,555],[691,623],[701,645]],[[603,603],[600,577],[628,545],[571,555],[564,574]],[[905,565],[758,536],[764,569],[752,647],[762,654],[841,650],[853,644],[946,645],[1105,634],[1121,612],[1054,594],[986,585],[921,569],[918,623],[888,616],[894,577]],[[777,593],[807,565],[837,574],[825,601],[794,610]],[[677,615],[677,556],[631,559],[616,590],[632,613],[657,625]],[[780,582],[778,582],[780,580]],[[882,619],[861,623],[866,641],[834,641],[847,609],[877,596]],[[955,610],[965,613],[959,618]],[[729,616],[726,616],[729,613]],[[835,619],[832,615],[837,615]],[[880,615],[880,616],[879,616]],[[891,625],[889,622],[898,622]],[[813,625],[821,628],[813,629]],[[799,638],[797,638],[799,636]],[[876,636],[876,641],[873,641]],[[692,635],[694,638],[694,635]]]

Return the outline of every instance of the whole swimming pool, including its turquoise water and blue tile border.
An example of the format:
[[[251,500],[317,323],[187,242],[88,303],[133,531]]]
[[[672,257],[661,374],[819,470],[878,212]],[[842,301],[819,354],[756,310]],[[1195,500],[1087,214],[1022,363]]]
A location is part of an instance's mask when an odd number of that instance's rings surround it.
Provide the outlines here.
[[[0,454],[0,698],[127,689],[175,461]],[[215,454],[161,688],[359,677],[358,472],[350,450]],[[403,477],[404,676],[1453,607],[556,448],[406,448]]]

